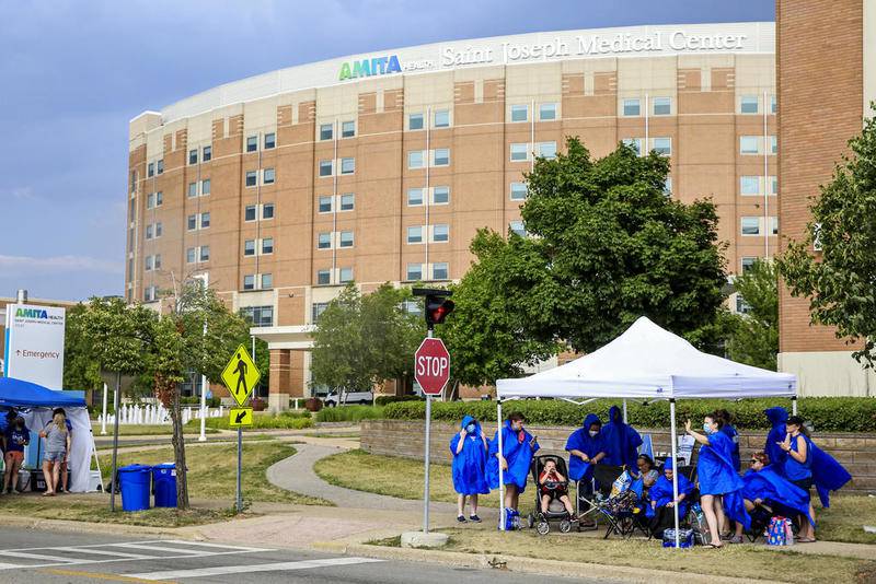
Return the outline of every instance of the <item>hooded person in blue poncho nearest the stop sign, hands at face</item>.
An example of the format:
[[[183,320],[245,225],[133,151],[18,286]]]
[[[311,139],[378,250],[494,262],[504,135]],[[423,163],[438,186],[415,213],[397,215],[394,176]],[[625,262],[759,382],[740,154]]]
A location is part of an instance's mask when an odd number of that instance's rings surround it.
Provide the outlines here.
[[[471,416],[462,419],[459,433],[450,439],[450,454],[453,455],[453,489],[457,498],[457,521],[465,523],[465,498],[469,498],[471,515],[469,519],[481,523],[477,516],[477,495],[488,494],[486,483],[486,435],[481,424]]]

